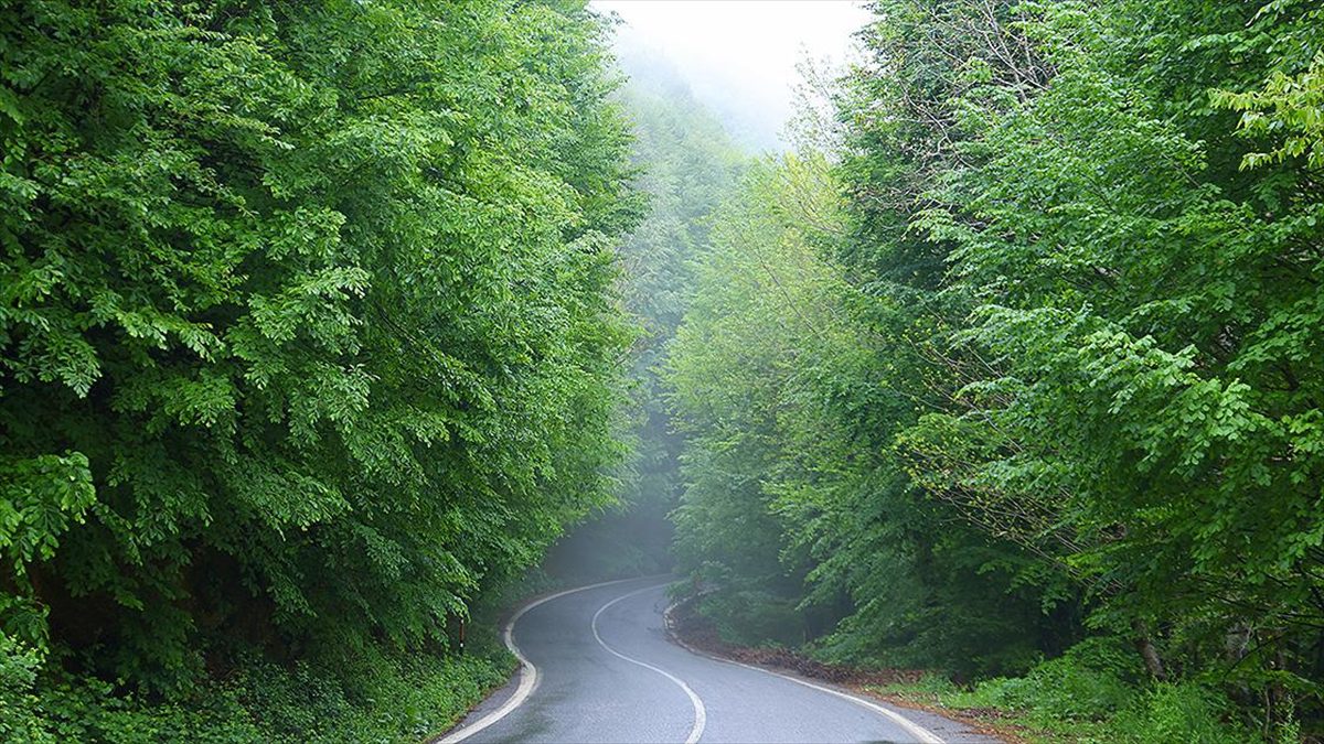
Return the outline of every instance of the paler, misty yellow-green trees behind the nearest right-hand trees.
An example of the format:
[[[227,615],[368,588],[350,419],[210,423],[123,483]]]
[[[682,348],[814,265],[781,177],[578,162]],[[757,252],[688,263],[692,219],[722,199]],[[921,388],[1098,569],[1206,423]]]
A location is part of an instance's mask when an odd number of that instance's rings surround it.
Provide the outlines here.
[[[730,588],[708,610],[747,641],[849,616],[826,642],[855,661],[970,674],[1061,650],[1034,590],[1058,575],[1031,581],[1023,552],[924,500],[891,453],[918,412],[888,342],[922,308],[875,306],[824,258],[849,238],[828,165],[764,164],[718,213],[670,375],[690,433],[682,565]]]

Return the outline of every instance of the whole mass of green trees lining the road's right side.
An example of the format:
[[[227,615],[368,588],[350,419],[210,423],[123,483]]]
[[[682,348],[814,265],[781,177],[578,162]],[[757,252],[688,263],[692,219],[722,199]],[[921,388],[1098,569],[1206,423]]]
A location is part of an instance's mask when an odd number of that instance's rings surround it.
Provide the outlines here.
[[[833,162],[719,212],[673,353],[708,614],[1041,690],[1120,641],[1110,710],[1320,720],[1317,4],[874,11]]]

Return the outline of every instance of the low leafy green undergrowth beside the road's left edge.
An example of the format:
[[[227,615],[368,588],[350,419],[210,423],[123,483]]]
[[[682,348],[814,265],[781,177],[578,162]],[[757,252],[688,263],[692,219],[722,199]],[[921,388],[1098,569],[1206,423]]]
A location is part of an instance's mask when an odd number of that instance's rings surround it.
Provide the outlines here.
[[[0,741],[420,741],[454,723],[514,666],[495,643],[467,655],[369,649],[338,662],[286,667],[249,659],[188,695],[148,699],[110,682],[42,671],[36,653],[5,639]]]

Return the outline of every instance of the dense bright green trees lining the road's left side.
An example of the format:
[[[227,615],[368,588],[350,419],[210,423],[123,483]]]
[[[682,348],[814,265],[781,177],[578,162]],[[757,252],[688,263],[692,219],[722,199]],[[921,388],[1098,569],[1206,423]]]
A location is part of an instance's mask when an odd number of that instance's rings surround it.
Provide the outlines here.
[[[0,725],[65,674],[421,679],[400,659],[610,502],[642,200],[604,29],[0,3]]]

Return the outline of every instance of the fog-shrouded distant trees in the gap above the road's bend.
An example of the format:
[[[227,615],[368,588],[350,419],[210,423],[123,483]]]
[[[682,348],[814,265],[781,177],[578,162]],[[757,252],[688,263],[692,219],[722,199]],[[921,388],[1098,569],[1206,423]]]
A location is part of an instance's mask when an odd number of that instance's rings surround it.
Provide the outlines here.
[[[620,502],[559,543],[551,575],[605,579],[661,573],[671,565],[671,523],[679,502],[681,438],[658,371],[694,291],[692,262],[708,241],[708,222],[731,189],[740,155],[722,124],[665,64],[622,52],[630,75],[621,105],[634,127],[636,187],[649,196],[643,221],[620,246],[625,307],[642,327],[630,348],[632,467]]]

